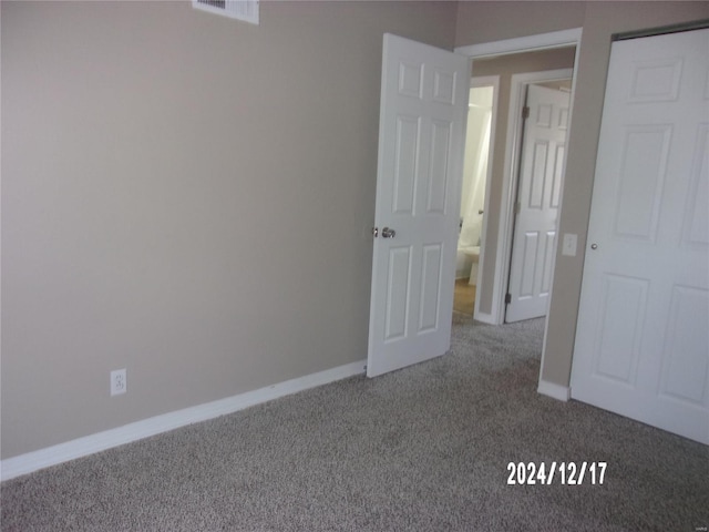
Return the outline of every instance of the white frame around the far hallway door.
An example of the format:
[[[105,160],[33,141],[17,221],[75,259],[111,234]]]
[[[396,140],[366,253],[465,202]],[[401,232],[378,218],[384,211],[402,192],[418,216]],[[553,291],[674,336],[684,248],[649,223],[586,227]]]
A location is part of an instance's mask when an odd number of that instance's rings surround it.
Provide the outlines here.
[[[503,294],[503,304],[501,308],[502,318],[501,324],[505,323],[507,305],[504,303],[504,295],[510,291],[510,276],[512,273],[512,248],[514,245],[514,224],[515,224],[515,209],[514,205],[517,202],[517,191],[520,188],[520,157],[522,156],[522,151],[524,150],[524,143],[526,139],[524,139],[524,121],[522,120],[522,109],[526,104],[526,88],[527,85],[533,85],[535,83],[544,83],[548,81],[561,81],[571,79],[572,83],[574,82],[574,69],[556,69],[556,70],[545,70],[540,72],[523,72],[520,74],[512,74],[512,80],[510,83],[510,111],[508,111],[508,123],[507,123],[507,137],[505,140],[505,166],[504,166],[504,175],[505,182],[503,183],[503,201],[510,205],[507,208],[507,221],[506,227],[508,229],[507,234],[504,234],[505,246],[504,249],[500,249],[501,246],[497,246],[499,254],[500,252],[504,253],[502,266],[497,269],[500,272],[500,278],[496,278],[496,283],[501,283],[502,286],[500,289]],[[573,99],[573,94],[569,95],[569,102]],[[569,103],[571,108],[571,103]],[[568,132],[571,130],[571,109],[568,116],[568,125],[569,127],[566,130],[566,145],[568,146]],[[562,196],[564,194],[564,176],[566,174],[566,157],[564,157],[564,166],[562,173],[562,183],[559,187],[559,213],[562,209]],[[502,213],[501,213],[502,218]],[[502,222],[502,221],[501,221]],[[554,249],[552,253],[556,257],[556,248],[558,247],[558,225],[561,222],[561,216],[556,218],[556,234],[557,237],[554,243]],[[501,225],[502,226],[502,225]],[[499,239],[500,242],[500,239]],[[554,266],[552,264],[552,278],[554,278]],[[495,275],[497,277],[497,275]],[[551,294],[549,294],[551,297]],[[548,304],[547,304],[548,305]],[[548,310],[548,309],[547,309]],[[480,319],[480,318],[479,318]]]

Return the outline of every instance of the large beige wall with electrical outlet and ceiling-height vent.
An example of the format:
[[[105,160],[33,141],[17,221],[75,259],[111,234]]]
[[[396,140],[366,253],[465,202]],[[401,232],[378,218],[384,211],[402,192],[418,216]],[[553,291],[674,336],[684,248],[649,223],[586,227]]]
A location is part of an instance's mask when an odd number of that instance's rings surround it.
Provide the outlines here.
[[[382,33],[456,6],[260,10],[2,2],[3,459],[366,358]]]

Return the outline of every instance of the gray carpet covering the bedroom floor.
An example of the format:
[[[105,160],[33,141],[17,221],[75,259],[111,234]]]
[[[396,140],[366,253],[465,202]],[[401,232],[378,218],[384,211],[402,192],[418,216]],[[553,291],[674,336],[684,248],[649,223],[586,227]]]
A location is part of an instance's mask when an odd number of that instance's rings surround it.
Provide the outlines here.
[[[709,448],[536,392],[542,320],[3,482],[3,531],[689,531]],[[603,485],[507,463],[606,461]],[[703,529],[706,530],[706,529]]]

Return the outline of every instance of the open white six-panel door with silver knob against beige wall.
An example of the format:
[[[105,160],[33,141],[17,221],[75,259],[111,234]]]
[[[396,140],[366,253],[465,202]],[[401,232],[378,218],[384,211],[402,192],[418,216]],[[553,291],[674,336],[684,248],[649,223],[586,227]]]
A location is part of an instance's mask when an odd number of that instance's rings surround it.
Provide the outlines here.
[[[469,60],[386,34],[367,375],[450,348]]]

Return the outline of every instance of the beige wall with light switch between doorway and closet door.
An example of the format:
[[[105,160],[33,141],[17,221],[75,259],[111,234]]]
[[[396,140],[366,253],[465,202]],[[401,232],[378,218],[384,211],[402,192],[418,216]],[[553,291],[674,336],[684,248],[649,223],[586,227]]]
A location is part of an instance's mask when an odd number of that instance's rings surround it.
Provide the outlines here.
[[[584,248],[614,33],[709,18],[709,2],[463,2],[456,45],[583,27],[559,233],[579,235],[576,257],[557,255],[542,378],[568,386]],[[561,252],[561,248],[559,248]]]

